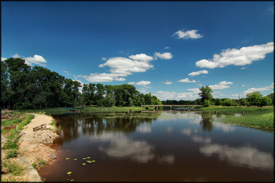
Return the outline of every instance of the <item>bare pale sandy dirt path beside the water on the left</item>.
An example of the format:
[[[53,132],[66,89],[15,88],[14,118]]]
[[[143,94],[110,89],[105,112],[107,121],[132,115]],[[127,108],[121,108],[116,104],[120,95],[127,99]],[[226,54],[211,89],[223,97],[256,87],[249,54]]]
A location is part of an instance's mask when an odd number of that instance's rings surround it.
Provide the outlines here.
[[[56,133],[53,133],[49,130],[43,130],[43,131],[33,131],[33,127],[37,127],[40,124],[46,124],[47,127],[50,127],[51,129],[54,128],[54,126],[50,125],[50,123],[53,121],[52,117],[43,115],[43,114],[34,114],[35,118],[31,120],[31,122],[24,126],[23,132],[26,134],[22,135],[20,138],[20,152],[21,156],[23,156],[29,164],[34,163],[38,158],[42,158],[47,164],[54,163],[55,159],[50,158],[50,154],[56,155],[56,152],[54,149],[51,149],[50,146],[46,146],[43,144],[43,141],[45,138],[57,138],[58,135]],[[3,140],[1,140],[1,146],[3,145]],[[1,150],[1,160],[5,156],[7,150]],[[15,158],[16,161],[19,160],[20,157]],[[9,176],[8,174],[1,175],[1,176]],[[32,182],[32,176],[21,176],[22,178],[28,178],[29,182]]]

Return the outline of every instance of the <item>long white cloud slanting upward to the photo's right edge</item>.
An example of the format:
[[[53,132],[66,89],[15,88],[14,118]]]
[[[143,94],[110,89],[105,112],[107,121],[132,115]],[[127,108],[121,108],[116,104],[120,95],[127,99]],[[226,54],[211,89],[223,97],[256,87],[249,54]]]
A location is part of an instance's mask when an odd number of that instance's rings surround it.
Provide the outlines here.
[[[215,67],[225,67],[228,65],[243,66],[251,64],[252,61],[262,60],[267,53],[274,51],[274,42],[262,45],[242,47],[240,49],[225,49],[220,54],[214,54],[213,59],[202,59],[196,62],[197,67],[209,69]]]

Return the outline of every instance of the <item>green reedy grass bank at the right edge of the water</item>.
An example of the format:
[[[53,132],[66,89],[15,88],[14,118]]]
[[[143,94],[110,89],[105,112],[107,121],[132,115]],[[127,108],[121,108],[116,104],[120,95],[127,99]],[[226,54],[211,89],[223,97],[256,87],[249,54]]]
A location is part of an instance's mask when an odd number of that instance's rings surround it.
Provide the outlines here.
[[[248,127],[274,128],[274,108],[273,107],[226,107],[226,106],[210,106],[200,108],[209,113],[217,111],[217,118],[215,122],[222,122],[226,124],[235,124]],[[221,113],[239,113],[240,116],[220,116]],[[244,114],[242,114],[244,111]]]

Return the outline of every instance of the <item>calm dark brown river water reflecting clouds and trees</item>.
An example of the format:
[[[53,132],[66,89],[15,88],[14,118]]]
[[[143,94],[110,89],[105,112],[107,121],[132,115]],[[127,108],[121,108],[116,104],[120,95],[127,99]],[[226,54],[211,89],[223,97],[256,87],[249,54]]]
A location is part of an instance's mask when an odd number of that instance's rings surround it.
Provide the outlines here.
[[[182,109],[54,115],[62,125],[52,145],[57,162],[39,175],[44,182],[274,181],[274,130],[204,116]]]

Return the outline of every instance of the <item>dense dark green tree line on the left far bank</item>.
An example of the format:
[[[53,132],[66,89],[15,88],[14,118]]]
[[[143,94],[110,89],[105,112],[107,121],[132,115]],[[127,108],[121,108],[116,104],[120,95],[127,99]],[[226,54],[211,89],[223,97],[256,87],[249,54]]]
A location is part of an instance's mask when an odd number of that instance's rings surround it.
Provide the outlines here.
[[[82,93],[79,92],[82,87]],[[151,93],[142,94],[133,85],[83,84],[21,58],[1,61],[1,105],[16,109],[47,107],[162,105]]]

